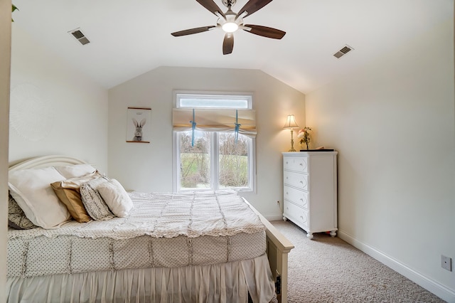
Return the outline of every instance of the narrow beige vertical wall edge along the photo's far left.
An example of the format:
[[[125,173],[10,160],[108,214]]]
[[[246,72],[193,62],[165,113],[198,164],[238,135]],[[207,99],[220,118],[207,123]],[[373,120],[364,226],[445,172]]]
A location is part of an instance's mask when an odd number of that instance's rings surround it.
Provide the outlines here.
[[[8,223],[8,126],[11,58],[11,1],[0,0],[0,302],[6,301],[6,232]]]

